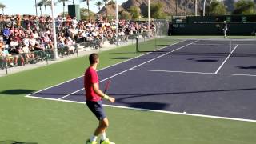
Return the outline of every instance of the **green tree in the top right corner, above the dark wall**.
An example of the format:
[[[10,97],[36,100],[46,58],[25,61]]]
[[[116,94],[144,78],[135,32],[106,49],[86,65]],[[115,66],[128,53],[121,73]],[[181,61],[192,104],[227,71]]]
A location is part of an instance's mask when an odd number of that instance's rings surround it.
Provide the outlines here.
[[[255,3],[252,0],[239,0],[234,3],[233,14],[255,14]]]

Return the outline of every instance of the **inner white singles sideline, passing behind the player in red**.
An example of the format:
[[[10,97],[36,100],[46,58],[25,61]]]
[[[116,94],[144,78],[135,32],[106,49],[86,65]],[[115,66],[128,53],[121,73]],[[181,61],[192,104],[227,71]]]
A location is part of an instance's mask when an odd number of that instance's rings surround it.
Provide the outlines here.
[[[197,41],[194,41],[194,42],[197,42]],[[191,45],[192,43],[194,43],[194,42],[190,42],[189,44],[186,44],[185,46],[178,47],[178,48],[175,49],[175,50],[171,50],[170,52],[167,52],[166,54],[162,54],[162,55],[159,55],[159,56],[156,57],[156,58],[152,58],[152,59],[150,59],[150,60],[148,60],[148,61],[146,61],[146,62],[142,62],[141,64],[139,64],[139,65],[137,65],[137,66],[134,66],[134,67],[132,67],[132,68],[130,68],[130,69],[123,70],[122,72],[120,72],[120,73],[118,73],[118,74],[114,74],[114,75],[112,75],[112,76],[110,76],[110,77],[108,77],[108,78],[102,79],[100,82],[104,82],[104,81],[106,81],[106,80],[108,80],[108,79],[110,79],[110,78],[114,78],[114,77],[116,77],[116,76],[118,76],[118,75],[120,75],[120,74],[126,73],[126,72],[129,71],[129,70],[133,70],[134,68],[136,68],[136,67],[138,67],[138,66],[142,66],[142,65],[144,65],[144,64],[146,64],[146,63],[148,63],[148,62],[152,62],[152,61],[154,61],[155,59],[158,59],[158,58],[161,58],[161,57],[163,57],[163,56],[165,56],[165,55],[167,55],[167,54],[173,53],[173,52],[176,51],[176,50],[181,50],[182,48],[184,48],[184,47],[186,47],[186,46],[190,46],[190,45]],[[68,97],[68,96],[70,96],[70,95],[72,95],[72,94],[75,94],[75,93],[77,93],[77,92],[79,92],[79,91],[81,91],[81,90],[84,90],[84,89],[85,89],[85,88],[76,90],[76,91],[74,91],[73,93],[67,94],[67,95],[65,95],[65,96],[63,96],[63,97],[61,97],[61,98],[58,98],[58,99],[66,98],[66,97]]]

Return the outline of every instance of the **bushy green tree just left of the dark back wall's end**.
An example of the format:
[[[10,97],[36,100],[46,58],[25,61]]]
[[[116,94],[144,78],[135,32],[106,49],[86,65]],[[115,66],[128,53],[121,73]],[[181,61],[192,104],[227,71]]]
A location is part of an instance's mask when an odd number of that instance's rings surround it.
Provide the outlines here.
[[[164,19],[167,17],[167,14],[163,13],[162,3],[157,2],[150,5],[150,17],[156,19]]]

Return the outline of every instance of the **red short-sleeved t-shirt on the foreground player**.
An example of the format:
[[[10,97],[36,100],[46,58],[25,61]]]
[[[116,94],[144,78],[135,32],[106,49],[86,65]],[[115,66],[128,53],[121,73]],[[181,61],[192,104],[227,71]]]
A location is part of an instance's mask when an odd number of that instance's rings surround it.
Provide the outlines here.
[[[93,88],[94,83],[98,84],[98,74],[97,74],[96,70],[94,70],[92,67],[89,67],[86,70],[86,73],[84,76],[84,86],[85,86],[85,90],[86,90],[86,101],[98,102],[98,101],[102,100],[102,98],[94,92],[94,88]]]

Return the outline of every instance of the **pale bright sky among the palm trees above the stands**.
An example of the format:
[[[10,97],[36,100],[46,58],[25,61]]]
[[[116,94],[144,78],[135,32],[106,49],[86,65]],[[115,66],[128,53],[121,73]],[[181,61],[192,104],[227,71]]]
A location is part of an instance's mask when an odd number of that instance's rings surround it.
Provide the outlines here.
[[[38,2],[40,0],[37,0]],[[0,0],[0,2],[6,5],[5,14],[33,14],[35,15],[35,0]],[[54,2],[58,2],[58,0],[54,0]],[[72,4],[72,0],[67,4]],[[75,0],[75,4],[80,4],[80,7],[86,7],[86,2],[80,2],[80,0]],[[90,10],[94,12],[98,12],[98,7],[94,6],[95,2],[98,0],[90,0]],[[122,2],[126,2],[126,0],[118,0],[118,4],[122,4]],[[67,11],[67,4],[65,7],[65,11]],[[58,5],[54,6],[55,16],[62,13],[62,3],[58,3]],[[48,14],[51,14],[50,6],[46,9]],[[0,11],[2,14],[2,10]],[[38,8],[38,14],[40,14],[40,10]],[[42,14],[45,14],[44,7],[42,7]]]

